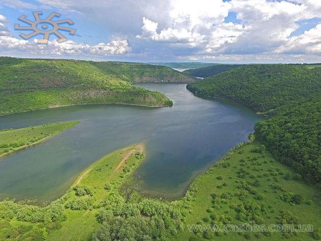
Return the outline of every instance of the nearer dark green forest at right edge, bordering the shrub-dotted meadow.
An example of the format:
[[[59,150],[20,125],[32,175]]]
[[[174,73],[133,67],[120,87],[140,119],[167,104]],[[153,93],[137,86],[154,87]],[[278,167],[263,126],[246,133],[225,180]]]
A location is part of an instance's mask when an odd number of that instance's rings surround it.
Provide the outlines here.
[[[287,104],[269,120],[255,124],[257,138],[297,178],[321,183],[321,101]]]

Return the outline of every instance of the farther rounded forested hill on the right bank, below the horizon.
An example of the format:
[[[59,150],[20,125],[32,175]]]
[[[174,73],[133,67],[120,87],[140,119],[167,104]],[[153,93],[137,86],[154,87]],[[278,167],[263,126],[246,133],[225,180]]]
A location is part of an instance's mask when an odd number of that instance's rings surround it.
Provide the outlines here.
[[[321,89],[321,69],[298,65],[249,65],[188,85],[201,96],[230,99],[265,112]]]

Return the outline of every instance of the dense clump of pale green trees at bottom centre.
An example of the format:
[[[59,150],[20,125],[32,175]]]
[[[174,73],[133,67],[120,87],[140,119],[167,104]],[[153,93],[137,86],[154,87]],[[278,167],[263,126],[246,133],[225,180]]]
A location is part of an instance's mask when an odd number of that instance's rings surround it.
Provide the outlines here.
[[[101,226],[92,240],[169,240],[183,228],[180,202],[147,198],[125,202],[118,193],[111,193],[101,203],[105,208],[97,215]]]

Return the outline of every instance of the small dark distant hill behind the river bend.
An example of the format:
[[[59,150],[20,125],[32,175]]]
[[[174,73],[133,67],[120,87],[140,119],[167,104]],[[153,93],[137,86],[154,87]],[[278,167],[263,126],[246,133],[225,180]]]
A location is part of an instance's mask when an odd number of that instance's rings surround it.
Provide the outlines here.
[[[217,75],[219,73],[222,73],[231,69],[235,69],[239,66],[241,65],[219,64],[219,65],[207,66],[207,67],[198,68],[198,69],[188,69],[183,71],[182,73],[190,76],[206,78],[206,77]]]

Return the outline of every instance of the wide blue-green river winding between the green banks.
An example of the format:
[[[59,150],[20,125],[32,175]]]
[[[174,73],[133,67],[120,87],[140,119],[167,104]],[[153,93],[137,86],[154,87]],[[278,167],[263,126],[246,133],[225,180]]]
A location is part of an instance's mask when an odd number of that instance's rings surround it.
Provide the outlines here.
[[[177,197],[191,179],[246,141],[261,116],[245,106],[194,96],[184,84],[139,84],[166,94],[172,107],[66,106],[0,117],[0,129],[81,120],[59,135],[0,159],[0,198],[54,200],[79,172],[109,152],[145,140],[141,191]]]

